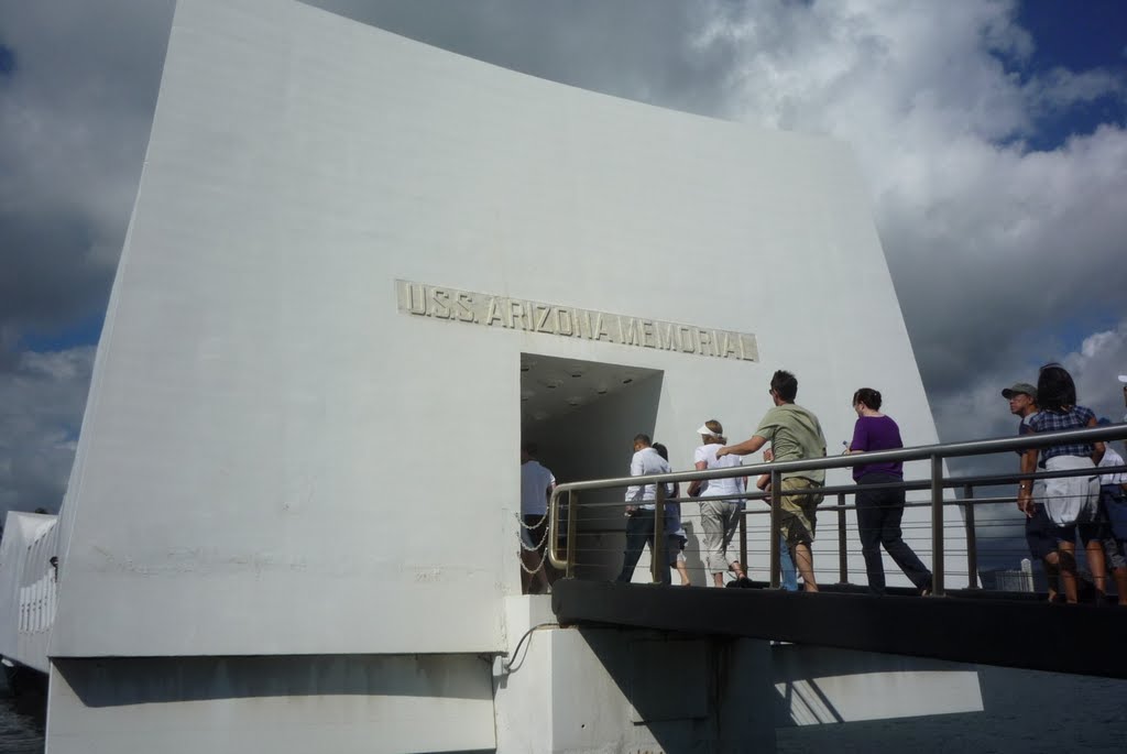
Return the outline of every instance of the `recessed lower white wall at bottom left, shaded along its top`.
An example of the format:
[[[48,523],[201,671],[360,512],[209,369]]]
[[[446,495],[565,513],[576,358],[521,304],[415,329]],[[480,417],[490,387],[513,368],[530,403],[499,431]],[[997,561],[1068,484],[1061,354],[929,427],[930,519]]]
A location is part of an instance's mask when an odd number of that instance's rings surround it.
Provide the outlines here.
[[[56,659],[50,754],[401,754],[496,746],[472,655]]]

